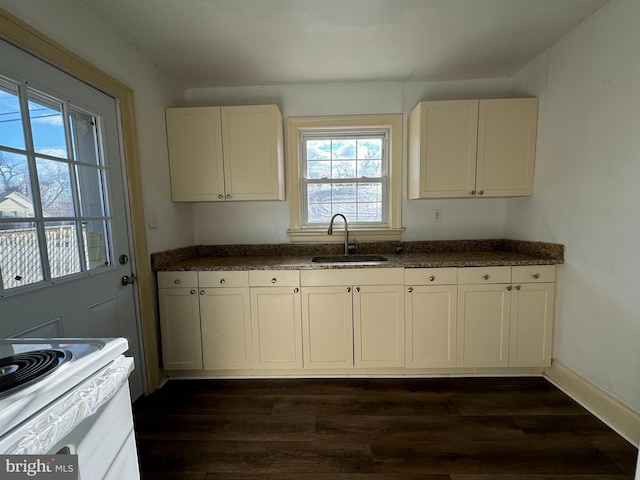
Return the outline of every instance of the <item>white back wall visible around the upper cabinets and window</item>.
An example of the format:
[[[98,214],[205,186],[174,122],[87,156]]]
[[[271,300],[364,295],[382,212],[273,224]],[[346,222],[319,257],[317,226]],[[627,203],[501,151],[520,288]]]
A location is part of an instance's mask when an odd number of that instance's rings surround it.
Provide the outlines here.
[[[505,78],[198,88],[185,91],[185,102],[189,106],[275,103],[285,119],[289,116],[403,113],[406,127],[406,115],[420,100],[500,98],[510,93],[511,81]],[[404,155],[406,165],[406,151]],[[403,184],[406,185],[406,179]],[[407,201],[406,194],[403,198],[404,241],[504,236],[504,199]],[[442,220],[438,223],[431,220],[434,208],[442,212]],[[198,244],[289,242],[288,202],[202,203],[194,204],[193,213]]]

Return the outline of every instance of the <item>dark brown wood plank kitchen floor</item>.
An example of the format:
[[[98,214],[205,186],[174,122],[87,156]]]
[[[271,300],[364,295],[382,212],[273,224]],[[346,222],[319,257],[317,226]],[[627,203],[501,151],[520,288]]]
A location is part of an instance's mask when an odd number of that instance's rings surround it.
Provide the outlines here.
[[[147,480],[629,480],[637,450],[543,378],[171,380]]]

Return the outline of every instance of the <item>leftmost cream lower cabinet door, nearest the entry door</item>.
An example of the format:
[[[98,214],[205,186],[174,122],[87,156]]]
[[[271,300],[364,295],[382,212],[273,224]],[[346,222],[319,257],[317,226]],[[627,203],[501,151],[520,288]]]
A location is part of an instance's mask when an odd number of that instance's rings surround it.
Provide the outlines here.
[[[160,288],[158,301],[164,369],[202,369],[200,309],[196,289]]]

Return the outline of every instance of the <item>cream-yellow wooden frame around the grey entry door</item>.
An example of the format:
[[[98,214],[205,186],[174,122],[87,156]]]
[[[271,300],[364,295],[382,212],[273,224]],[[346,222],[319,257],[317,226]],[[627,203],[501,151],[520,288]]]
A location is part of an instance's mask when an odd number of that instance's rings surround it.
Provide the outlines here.
[[[126,187],[129,196],[130,233],[131,242],[133,243],[132,255],[138,278],[138,330],[142,333],[145,361],[145,365],[141,367],[146,371],[146,386],[149,393],[151,393],[160,385],[164,372],[159,367],[158,358],[158,339],[154,313],[155,297],[142,202],[133,89],[2,8],[0,8],[0,38],[88,83],[116,100],[122,135],[122,151],[124,152]]]

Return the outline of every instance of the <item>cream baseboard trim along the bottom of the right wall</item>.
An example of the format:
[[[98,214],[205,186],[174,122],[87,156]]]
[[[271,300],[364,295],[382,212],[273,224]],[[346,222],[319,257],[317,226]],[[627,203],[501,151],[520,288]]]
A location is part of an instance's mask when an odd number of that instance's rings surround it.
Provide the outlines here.
[[[544,377],[589,410],[624,439],[638,447],[640,413],[589,382],[558,361],[545,368]]]

